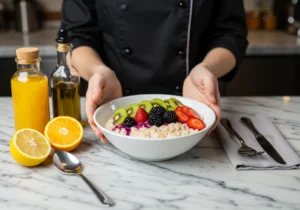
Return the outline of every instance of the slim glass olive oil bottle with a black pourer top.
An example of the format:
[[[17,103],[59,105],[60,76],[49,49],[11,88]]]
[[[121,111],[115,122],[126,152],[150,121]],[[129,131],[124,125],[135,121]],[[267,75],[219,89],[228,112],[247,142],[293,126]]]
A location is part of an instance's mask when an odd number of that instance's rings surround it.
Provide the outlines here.
[[[57,66],[51,75],[53,117],[70,116],[81,120],[80,76],[71,64],[67,31],[61,29],[56,42]]]

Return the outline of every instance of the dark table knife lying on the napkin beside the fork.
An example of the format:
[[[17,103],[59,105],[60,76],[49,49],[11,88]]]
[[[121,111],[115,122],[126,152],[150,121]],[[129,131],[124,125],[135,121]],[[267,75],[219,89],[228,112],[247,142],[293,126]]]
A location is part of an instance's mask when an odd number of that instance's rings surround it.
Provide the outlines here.
[[[249,118],[241,117],[241,121],[253,132],[260,146],[271,156],[271,158],[280,164],[286,164],[272,144],[270,144],[270,142],[260,132],[258,132]]]

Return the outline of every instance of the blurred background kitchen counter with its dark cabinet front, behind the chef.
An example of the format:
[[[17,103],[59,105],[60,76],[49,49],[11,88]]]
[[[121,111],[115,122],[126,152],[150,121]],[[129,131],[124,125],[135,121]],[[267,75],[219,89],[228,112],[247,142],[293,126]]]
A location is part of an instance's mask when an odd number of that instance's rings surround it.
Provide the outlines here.
[[[10,95],[10,77],[15,72],[15,50],[22,46],[40,48],[41,69],[48,76],[56,65],[57,28],[30,35],[14,31],[0,34],[0,95]],[[300,38],[282,31],[249,31],[247,55],[233,81],[221,84],[226,96],[299,95]],[[81,94],[87,84],[82,82]]]

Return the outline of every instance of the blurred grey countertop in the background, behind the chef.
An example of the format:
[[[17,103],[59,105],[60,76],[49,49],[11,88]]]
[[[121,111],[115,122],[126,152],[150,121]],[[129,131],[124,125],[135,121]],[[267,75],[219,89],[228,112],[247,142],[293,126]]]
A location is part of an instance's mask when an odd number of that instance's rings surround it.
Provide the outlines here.
[[[56,56],[55,37],[57,29],[43,29],[30,35],[15,31],[0,33],[0,58],[15,57],[16,48],[35,46],[40,48],[41,56]],[[280,31],[250,31],[247,55],[299,55],[300,38]]]

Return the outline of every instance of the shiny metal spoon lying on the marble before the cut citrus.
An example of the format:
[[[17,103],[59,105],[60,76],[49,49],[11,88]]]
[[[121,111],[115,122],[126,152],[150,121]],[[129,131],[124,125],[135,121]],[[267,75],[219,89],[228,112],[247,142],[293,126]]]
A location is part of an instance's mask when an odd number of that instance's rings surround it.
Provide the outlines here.
[[[92,191],[96,194],[98,199],[103,203],[105,206],[113,206],[115,202],[105,195],[99,188],[96,188],[82,173],[82,165],[80,161],[71,153],[64,152],[64,151],[57,151],[53,155],[53,163],[56,168],[64,173],[64,174],[76,174],[80,176],[85,183],[92,189]]]

